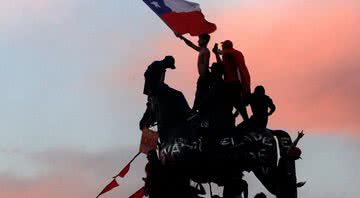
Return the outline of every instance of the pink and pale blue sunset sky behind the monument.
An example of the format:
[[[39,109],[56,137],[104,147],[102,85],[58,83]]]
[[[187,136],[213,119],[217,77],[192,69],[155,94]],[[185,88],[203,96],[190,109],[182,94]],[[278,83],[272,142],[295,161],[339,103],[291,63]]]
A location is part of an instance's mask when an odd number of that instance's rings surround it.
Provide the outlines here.
[[[299,197],[357,197],[360,1],[193,1],[217,25],[209,46],[232,40],[272,97],[269,128],[305,131]],[[137,152],[154,60],[176,58],[166,81],[192,104],[197,54],[142,0],[0,2],[0,197],[96,197]],[[140,188],[144,165],[104,198]]]

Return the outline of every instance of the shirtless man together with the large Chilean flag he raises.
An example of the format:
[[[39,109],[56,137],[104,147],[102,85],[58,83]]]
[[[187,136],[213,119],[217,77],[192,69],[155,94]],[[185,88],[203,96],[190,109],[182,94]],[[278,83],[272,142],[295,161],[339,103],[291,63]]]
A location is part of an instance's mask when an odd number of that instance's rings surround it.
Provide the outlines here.
[[[200,109],[202,99],[209,87],[208,73],[210,51],[207,44],[210,33],[216,30],[216,25],[208,22],[203,15],[198,3],[186,0],[143,0],[152,11],[175,33],[177,37],[199,52],[198,72],[199,80],[195,94],[193,111]],[[183,37],[189,33],[191,36],[199,36],[198,46]]]

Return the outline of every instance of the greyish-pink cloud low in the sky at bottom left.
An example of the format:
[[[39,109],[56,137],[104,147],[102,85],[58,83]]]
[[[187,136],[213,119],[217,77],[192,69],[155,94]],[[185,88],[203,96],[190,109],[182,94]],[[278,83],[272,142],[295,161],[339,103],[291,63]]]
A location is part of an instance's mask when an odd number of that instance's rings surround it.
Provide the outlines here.
[[[96,197],[134,152],[136,148],[102,153],[53,150],[31,154],[30,158],[49,170],[31,179],[0,173],[0,197]],[[128,175],[118,180],[120,186],[103,197],[128,197],[143,185],[141,178],[144,174],[144,156],[140,156],[132,164]]]

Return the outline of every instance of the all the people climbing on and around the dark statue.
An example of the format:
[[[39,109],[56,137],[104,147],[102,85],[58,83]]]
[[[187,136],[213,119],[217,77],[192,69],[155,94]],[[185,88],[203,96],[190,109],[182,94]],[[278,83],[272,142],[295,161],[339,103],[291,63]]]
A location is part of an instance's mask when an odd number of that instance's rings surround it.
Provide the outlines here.
[[[219,129],[235,127],[235,118],[238,115],[242,117],[242,123],[246,127],[257,129],[265,129],[268,124],[268,117],[272,115],[276,107],[272,99],[266,95],[265,88],[262,85],[256,86],[251,93],[250,73],[245,63],[244,55],[234,48],[233,42],[226,40],[221,42],[221,49],[218,44],[215,44],[210,51],[208,43],[210,35],[202,34],[198,37],[198,43],[194,44],[183,35],[175,35],[184,41],[186,45],[198,52],[197,71],[198,80],[196,86],[196,93],[194,104],[192,108],[184,105],[184,111],[187,115],[187,120],[191,120],[196,116],[209,117],[209,112],[215,112],[221,118],[224,124],[220,124],[218,120],[209,121],[210,126]],[[216,56],[216,62],[210,67],[211,52]],[[147,109],[140,121],[140,129],[149,128],[156,121],[154,112],[155,95],[159,87],[165,84],[165,73],[167,69],[176,69],[175,58],[173,56],[166,56],[163,60],[154,61],[151,63],[144,76],[145,85],[143,93],[147,95]],[[185,97],[181,92],[176,92],[181,98]],[[186,101],[186,100],[185,100]],[[252,115],[249,117],[246,107],[250,106]],[[235,112],[233,112],[235,109]],[[300,157],[301,151],[296,147],[297,142],[303,136],[303,133],[298,135],[298,138],[293,143],[288,151],[288,156],[291,160],[296,160]],[[166,174],[159,171],[161,163],[158,159],[156,151],[148,153],[149,163],[146,166],[147,177],[144,178],[146,183],[146,193],[150,198],[161,198],[159,189],[162,191],[162,183],[166,181]],[[287,160],[287,159],[284,159]],[[304,183],[298,183],[298,187]],[[201,194],[201,193],[199,193]],[[199,196],[201,197],[201,196]],[[214,198],[216,196],[213,196]],[[247,182],[242,178],[225,185],[223,198],[244,197],[248,198]],[[259,193],[255,198],[265,198],[264,193]]]

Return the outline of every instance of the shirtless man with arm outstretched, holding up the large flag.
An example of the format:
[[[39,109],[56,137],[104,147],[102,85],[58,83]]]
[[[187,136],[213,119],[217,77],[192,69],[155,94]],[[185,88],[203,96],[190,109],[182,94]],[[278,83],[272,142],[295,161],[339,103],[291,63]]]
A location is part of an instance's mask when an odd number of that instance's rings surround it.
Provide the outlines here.
[[[195,45],[181,34],[175,33],[175,35],[178,38],[182,39],[186,43],[186,45],[199,52],[198,60],[197,60],[197,69],[199,73],[199,78],[197,81],[194,105],[192,108],[192,110],[196,112],[201,109],[201,105],[203,101],[206,99],[206,96],[209,91],[210,50],[208,49],[207,45],[210,41],[210,35],[209,34],[200,35],[198,40],[198,45]]]

